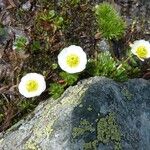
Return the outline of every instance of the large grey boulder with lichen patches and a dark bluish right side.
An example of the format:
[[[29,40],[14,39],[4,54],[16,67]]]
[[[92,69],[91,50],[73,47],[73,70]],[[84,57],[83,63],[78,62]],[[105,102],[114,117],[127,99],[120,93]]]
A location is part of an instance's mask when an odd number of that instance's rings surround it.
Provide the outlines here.
[[[81,81],[0,134],[0,150],[113,149],[150,149],[150,81]]]

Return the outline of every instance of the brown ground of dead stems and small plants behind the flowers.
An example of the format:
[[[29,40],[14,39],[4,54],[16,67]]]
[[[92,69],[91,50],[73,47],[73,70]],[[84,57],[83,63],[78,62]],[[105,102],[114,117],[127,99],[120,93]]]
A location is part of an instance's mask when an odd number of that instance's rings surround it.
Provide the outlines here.
[[[53,69],[59,51],[70,44],[83,47],[88,57],[100,50],[113,49],[114,57],[121,59],[130,42],[150,38],[149,0],[110,0],[127,22],[124,37],[108,42],[98,30],[93,7],[102,0],[81,0],[73,3],[61,0],[0,0],[0,131],[4,131],[20,118],[32,112],[41,100],[30,102],[21,97],[17,84],[23,74],[39,72],[45,75],[47,84],[59,82],[58,71]],[[56,22],[41,21],[43,12],[54,10]],[[62,17],[63,20],[57,20]],[[27,37],[25,51],[12,49],[16,36]],[[35,44],[36,43],[36,44]],[[38,44],[37,44],[38,43]],[[149,62],[141,62],[140,77],[149,78]],[[89,76],[83,74],[81,79]],[[18,119],[19,118],[19,119]]]

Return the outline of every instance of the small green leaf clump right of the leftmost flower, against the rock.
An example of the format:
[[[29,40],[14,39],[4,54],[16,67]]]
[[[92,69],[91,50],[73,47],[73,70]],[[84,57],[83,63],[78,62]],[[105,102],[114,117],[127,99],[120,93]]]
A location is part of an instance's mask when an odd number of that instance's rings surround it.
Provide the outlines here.
[[[64,92],[64,86],[59,83],[51,83],[49,87],[49,93],[54,99],[57,99]]]

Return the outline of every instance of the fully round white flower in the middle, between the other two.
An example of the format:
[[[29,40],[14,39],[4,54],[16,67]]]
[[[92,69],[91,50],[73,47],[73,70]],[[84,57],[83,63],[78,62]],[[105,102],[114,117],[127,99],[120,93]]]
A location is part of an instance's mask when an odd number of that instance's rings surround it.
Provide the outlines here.
[[[68,73],[81,72],[86,67],[87,56],[80,46],[71,45],[59,53],[58,64]]]

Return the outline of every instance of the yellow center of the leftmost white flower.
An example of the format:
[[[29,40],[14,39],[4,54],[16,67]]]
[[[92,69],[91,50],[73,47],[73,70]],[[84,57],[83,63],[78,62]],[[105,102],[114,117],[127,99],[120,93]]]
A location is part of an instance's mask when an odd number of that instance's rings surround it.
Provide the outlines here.
[[[34,92],[38,89],[38,82],[36,80],[29,80],[26,84],[28,92]]]

